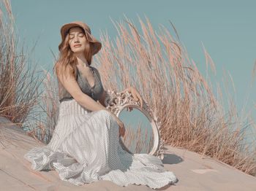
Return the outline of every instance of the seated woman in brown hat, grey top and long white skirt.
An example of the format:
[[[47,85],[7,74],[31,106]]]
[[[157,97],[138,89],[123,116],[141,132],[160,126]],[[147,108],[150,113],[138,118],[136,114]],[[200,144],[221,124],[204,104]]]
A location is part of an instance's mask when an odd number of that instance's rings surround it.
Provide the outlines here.
[[[121,120],[105,108],[106,91],[91,58],[102,44],[86,23],[61,27],[60,58],[56,63],[59,83],[59,118],[50,142],[24,155],[37,171],[55,170],[61,180],[82,185],[99,180],[120,186],[143,184],[164,187],[177,181],[162,160],[148,154],[129,154],[119,144],[125,129]],[[135,100],[142,99],[128,87]],[[130,108],[131,109],[131,108]]]

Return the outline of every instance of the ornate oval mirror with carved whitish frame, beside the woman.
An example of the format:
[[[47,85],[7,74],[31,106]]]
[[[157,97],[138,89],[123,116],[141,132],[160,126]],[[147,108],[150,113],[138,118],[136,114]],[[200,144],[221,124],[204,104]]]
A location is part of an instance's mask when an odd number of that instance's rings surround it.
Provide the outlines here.
[[[125,135],[120,137],[121,147],[129,153],[148,153],[161,159],[164,157],[164,141],[160,136],[160,125],[146,101],[143,108],[134,101],[132,94],[108,90],[105,99],[107,109],[124,122]],[[132,111],[127,111],[132,107]]]

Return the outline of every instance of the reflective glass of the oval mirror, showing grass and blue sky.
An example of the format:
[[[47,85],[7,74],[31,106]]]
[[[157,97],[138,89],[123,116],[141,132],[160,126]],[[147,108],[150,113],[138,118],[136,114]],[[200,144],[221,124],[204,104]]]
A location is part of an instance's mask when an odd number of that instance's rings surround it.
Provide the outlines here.
[[[149,153],[154,146],[154,133],[151,122],[140,109],[135,106],[132,111],[127,111],[125,106],[118,114],[118,118],[124,122],[125,135],[121,141],[132,153]]]

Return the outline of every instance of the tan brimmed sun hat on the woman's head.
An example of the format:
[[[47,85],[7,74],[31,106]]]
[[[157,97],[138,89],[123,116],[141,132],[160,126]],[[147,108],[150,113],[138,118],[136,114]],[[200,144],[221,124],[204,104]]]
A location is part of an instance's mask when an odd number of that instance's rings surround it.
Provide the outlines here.
[[[86,23],[83,23],[81,21],[74,21],[72,23],[67,23],[67,24],[64,24],[64,26],[61,26],[61,44],[59,44],[59,50],[61,50],[61,47],[64,43],[65,36],[67,35],[69,29],[74,26],[80,26],[81,28],[83,28],[86,36],[89,37],[89,42],[92,43],[92,47],[93,47],[93,50],[92,50],[93,55],[99,52],[99,50],[102,47],[101,42],[99,42],[97,39],[95,39],[93,35],[91,35],[91,29],[89,28],[89,26]]]

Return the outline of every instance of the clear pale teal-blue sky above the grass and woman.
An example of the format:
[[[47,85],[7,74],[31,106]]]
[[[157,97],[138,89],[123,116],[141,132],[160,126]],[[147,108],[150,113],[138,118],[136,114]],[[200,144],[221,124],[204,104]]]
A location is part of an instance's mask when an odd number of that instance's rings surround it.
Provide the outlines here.
[[[213,85],[222,82],[223,71],[230,72],[236,87],[231,95],[241,110],[252,111],[256,120],[256,88],[251,85],[251,74],[256,61],[256,1],[32,1],[12,0],[20,41],[25,40],[29,48],[37,42],[34,57],[45,69],[53,66],[53,55],[57,55],[61,41],[59,29],[64,23],[83,20],[99,39],[101,31],[108,31],[111,39],[116,35],[113,20],[122,20],[124,15],[136,26],[138,16],[148,17],[154,29],[163,25],[174,32],[169,20],[178,31],[189,58],[197,63],[206,76],[206,59],[203,46],[213,59],[217,75],[211,75]],[[103,44],[104,45],[104,44]],[[224,90],[223,93],[225,94]]]

